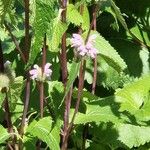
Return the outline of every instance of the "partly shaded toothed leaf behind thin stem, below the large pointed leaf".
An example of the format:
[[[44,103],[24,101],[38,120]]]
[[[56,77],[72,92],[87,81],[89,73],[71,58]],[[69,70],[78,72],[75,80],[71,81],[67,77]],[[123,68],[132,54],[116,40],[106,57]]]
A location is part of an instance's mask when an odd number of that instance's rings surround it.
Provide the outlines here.
[[[133,78],[124,72],[118,72],[110,66],[103,57],[97,56],[97,85],[103,85],[105,88],[117,89],[124,84],[132,82]],[[87,59],[85,79],[89,84],[93,82],[93,61]]]

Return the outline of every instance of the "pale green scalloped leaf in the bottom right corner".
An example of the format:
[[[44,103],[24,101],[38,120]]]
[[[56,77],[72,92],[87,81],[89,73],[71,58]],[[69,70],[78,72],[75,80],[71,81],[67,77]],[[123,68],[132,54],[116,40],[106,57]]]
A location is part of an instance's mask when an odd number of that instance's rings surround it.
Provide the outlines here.
[[[116,125],[118,140],[130,149],[150,142],[150,127],[131,124]]]

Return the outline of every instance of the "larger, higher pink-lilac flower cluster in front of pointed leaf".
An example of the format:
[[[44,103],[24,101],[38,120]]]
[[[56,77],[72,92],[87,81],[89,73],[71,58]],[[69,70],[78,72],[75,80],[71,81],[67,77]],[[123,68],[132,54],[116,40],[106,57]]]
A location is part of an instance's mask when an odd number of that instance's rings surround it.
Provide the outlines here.
[[[80,34],[73,34],[73,37],[71,38],[71,46],[77,49],[79,55],[87,55],[92,58],[95,58],[97,54],[97,49],[93,46],[93,41],[95,40],[95,38],[95,34],[89,36],[88,41],[85,44]]]

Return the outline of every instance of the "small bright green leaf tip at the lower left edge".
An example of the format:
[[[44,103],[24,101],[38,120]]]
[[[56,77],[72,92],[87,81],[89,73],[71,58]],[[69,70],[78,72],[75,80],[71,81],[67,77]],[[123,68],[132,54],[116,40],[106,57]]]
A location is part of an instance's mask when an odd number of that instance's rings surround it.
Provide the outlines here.
[[[0,125],[0,144],[4,143],[5,140],[10,138],[10,136],[11,135],[7,132],[7,130],[2,125]]]

